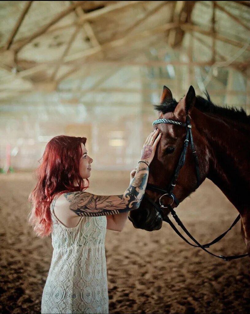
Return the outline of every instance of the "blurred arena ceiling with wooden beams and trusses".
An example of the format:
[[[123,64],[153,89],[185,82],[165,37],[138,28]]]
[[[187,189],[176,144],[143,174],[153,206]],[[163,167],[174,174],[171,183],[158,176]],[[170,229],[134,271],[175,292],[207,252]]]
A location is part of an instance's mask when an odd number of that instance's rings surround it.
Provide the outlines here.
[[[250,1],[1,1],[0,100],[126,65],[224,62],[248,78],[249,31]]]

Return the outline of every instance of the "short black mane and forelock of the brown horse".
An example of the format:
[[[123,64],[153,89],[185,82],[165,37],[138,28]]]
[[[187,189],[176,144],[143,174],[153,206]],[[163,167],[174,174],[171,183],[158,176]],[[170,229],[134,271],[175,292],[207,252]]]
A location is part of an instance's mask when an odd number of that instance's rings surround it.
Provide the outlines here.
[[[246,123],[250,124],[250,116],[247,115],[246,111],[243,108],[236,108],[236,107],[220,107],[215,105],[208,94],[205,93],[207,99],[202,96],[196,96],[195,99],[195,107],[202,111],[212,113],[214,115],[218,115],[224,118],[229,118],[234,122]],[[177,106],[178,102],[173,99],[158,106],[154,106],[155,109],[163,114],[167,112],[173,112]]]

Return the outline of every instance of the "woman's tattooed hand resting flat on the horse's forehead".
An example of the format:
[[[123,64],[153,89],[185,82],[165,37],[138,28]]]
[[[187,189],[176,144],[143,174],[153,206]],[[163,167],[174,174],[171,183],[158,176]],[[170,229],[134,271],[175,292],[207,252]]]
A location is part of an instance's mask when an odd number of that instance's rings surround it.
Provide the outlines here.
[[[148,165],[150,164],[155,156],[156,146],[159,143],[160,138],[161,133],[158,128],[149,134],[143,145],[140,160],[146,162]]]

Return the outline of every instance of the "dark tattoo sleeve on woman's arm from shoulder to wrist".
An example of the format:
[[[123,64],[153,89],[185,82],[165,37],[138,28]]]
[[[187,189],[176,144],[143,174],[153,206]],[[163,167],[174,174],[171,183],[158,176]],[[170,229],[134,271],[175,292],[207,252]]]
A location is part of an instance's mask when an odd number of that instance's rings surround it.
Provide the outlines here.
[[[107,216],[137,209],[143,199],[148,181],[148,167],[140,163],[133,181],[123,195],[102,196],[88,192],[64,194],[69,208],[78,216]]]

